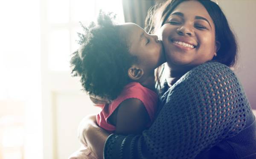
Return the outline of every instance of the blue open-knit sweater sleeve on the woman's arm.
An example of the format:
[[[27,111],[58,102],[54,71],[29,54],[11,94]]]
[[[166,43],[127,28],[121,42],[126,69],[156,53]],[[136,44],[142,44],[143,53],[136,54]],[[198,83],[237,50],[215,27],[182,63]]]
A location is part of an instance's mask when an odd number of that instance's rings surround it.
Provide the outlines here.
[[[142,135],[108,137],[105,159],[195,158],[251,122],[250,104],[236,75],[217,62],[187,72],[161,100],[161,111]]]

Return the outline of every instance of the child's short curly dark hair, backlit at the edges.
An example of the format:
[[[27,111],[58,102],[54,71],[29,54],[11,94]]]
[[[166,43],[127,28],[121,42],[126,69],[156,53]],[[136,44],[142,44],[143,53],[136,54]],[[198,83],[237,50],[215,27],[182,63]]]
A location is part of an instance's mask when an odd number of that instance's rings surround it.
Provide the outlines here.
[[[111,13],[99,14],[97,25],[91,23],[79,34],[81,48],[72,54],[72,76],[81,77],[83,90],[89,94],[116,99],[130,81],[128,69],[136,57],[129,52],[120,26],[114,24]]]

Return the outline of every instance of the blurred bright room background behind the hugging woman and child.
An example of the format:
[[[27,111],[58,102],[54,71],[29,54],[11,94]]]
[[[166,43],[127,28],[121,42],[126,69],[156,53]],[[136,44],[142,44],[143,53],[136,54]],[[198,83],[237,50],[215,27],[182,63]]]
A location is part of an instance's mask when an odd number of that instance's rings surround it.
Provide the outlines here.
[[[70,54],[79,45],[79,21],[99,9],[120,23],[144,27],[147,10],[164,0],[0,1],[0,159],[67,159],[79,148],[81,119],[99,110],[70,76]],[[256,109],[256,1],[218,0],[236,33],[235,70]]]

